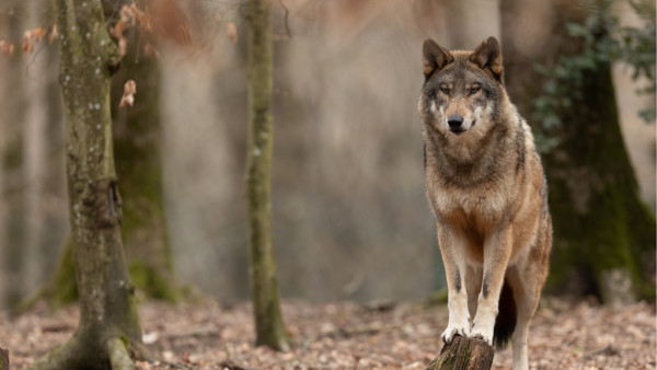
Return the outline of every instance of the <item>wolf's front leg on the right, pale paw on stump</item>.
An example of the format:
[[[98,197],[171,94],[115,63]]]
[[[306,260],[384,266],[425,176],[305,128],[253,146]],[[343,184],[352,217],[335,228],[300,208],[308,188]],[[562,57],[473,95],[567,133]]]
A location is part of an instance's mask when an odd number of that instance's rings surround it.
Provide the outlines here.
[[[510,224],[499,228],[484,242],[484,280],[472,324],[472,337],[484,339],[489,345],[493,345],[499,293],[514,246],[511,230]]]

